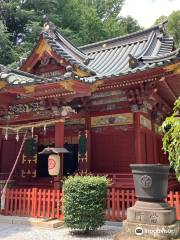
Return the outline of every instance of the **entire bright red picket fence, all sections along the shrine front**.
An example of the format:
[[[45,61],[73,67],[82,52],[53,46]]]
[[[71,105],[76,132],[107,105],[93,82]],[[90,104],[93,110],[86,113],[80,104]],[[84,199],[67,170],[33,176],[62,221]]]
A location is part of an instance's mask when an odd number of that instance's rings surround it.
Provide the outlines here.
[[[106,219],[125,220],[126,209],[136,201],[134,190],[109,188],[107,194]],[[63,219],[63,200],[64,195],[59,190],[8,189],[5,215]],[[176,207],[177,220],[180,220],[180,192],[170,192],[166,200],[171,207]]]

